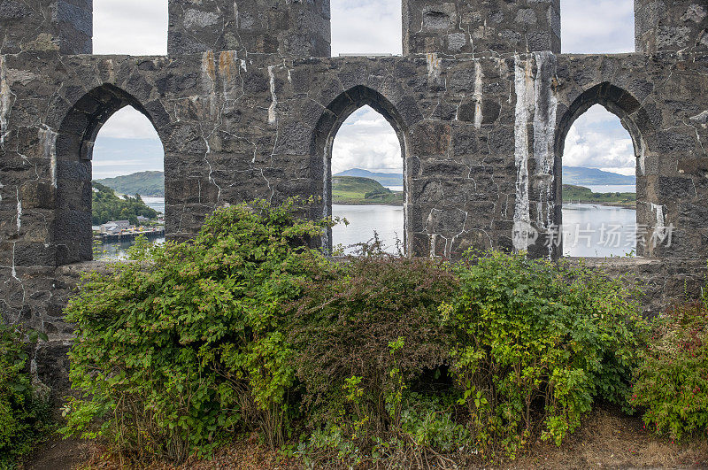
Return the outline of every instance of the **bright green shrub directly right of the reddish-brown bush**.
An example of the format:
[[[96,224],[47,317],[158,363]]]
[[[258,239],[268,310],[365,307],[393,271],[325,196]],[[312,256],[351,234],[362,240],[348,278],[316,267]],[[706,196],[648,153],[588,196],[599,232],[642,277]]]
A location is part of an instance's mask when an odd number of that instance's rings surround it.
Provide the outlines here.
[[[537,429],[559,445],[596,398],[625,403],[643,321],[620,281],[498,252],[453,271],[452,374],[483,450],[513,456]]]

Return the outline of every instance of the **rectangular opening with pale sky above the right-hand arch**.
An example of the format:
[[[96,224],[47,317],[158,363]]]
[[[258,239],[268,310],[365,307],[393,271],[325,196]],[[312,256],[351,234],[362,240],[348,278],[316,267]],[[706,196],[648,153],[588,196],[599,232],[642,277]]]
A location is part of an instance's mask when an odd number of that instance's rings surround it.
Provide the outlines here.
[[[566,54],[635,51],[634,0],[561,0],[560,18]]]

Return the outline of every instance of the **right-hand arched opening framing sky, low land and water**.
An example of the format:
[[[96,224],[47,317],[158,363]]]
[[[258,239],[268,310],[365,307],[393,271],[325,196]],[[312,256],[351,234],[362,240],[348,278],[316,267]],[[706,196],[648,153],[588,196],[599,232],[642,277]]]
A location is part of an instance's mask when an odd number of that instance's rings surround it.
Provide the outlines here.
[[[575,120],[563,155],[565,256],[636,253],[636,158],[620,119],[596,104]]]

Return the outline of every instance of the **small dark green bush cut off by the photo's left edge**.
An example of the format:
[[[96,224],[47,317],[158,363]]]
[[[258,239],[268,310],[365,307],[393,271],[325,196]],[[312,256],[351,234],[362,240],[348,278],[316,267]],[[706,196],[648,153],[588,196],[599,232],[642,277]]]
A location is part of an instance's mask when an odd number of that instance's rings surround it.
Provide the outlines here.
[[[46,394],[33,388],[27,373],[23,340],[35,343],[38,334],[5,325],[0,319],[0,467],[12,468],[32,450],[49,423]],[[46,339],[42,335],[43,339]]]

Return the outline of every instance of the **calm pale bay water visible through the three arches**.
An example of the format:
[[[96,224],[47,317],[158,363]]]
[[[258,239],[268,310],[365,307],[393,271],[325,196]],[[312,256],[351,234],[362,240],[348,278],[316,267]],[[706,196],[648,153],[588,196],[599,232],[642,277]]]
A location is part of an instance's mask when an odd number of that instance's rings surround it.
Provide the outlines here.
[[[595,192],[632,192],[634,186],[593,186]],[[165,212],[164,197],[143,197],[145,204],[158,212]],[[350,222],[332,229],[333,242],[344,247],[369,242],[373,231],[379,236],[385,250],[396,253],[396,239],[403,242],[404,208],[394,205],[333,205],[335,216]],[[604,258],[624,256],[635,250],[636,211],[599,204],[564,204],[564,250],[565,256]],[[164,243],[160,238],[156,243]],[[131,242],[105,243],[104,253],[96,259],[125,258]],[[346,249],[353,253],[356,248]]]

